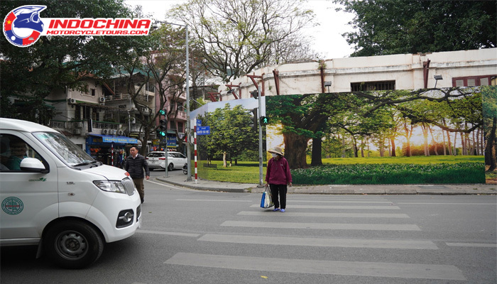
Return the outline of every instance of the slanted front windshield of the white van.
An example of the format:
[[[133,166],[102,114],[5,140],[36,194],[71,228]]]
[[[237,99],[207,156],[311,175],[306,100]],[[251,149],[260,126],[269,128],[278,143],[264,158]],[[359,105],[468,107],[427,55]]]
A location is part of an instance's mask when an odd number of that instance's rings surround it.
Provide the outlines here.
[[[96,162],[90,155],[72,143],[67,137],[56,132],[35,132],[33,133],[36,139],[43,143],[45,147],[50,149],[63,162],[71,166],[88,165]]]

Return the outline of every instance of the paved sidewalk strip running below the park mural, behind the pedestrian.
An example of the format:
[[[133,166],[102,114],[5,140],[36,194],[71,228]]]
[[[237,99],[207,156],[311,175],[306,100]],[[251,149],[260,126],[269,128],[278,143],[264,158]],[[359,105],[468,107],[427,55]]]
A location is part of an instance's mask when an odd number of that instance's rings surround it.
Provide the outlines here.
[[[219,192],[263,192],[264,187],[253,183],[217,182],[198,179],[186,181],[186,175],[158,177],[155,180],[195,190]],[[322,195],[497,195],[497,185],[294,185],[288,193],[314,193]]]

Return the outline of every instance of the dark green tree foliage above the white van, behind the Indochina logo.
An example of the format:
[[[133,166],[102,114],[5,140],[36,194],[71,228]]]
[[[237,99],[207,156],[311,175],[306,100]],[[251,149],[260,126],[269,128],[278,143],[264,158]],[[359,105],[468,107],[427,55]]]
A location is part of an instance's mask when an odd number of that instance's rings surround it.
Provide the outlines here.
[[[33,1],[2,1],[5,16]],[[129,18],[122,0],[40,0],[42,18]],[[131,61],[146,50],[146,36],[42,36],[27,48],[18,48],[0,37],[1,116],[48,122],[53,111],[43,99],[56,90],[82,88],[88,77],[106,78],[121,62]],[[28,94],[28,96],[26,96]],[[21,104],[11,104],[15,97]]]

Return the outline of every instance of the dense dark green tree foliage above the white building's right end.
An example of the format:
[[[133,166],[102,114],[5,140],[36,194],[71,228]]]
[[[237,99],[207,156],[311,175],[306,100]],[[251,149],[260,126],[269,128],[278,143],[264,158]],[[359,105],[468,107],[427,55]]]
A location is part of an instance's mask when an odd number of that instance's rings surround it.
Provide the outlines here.
[[[351,56],[495,48],[497,1],[335,0],[355,13]]]

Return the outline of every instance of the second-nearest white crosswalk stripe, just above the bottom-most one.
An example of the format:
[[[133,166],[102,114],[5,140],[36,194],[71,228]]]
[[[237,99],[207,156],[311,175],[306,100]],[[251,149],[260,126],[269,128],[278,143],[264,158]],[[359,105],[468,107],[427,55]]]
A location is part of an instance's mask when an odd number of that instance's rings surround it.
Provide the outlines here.
[[[215,241],[233,244],[261,244],[283,246],[326,246],[368,249],[438,249],[432,241],[395,241],[378,239],[316,239],[288,236],[244,236],[204,234],[198,241]]]

